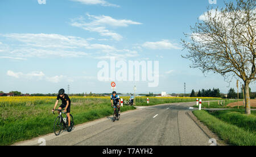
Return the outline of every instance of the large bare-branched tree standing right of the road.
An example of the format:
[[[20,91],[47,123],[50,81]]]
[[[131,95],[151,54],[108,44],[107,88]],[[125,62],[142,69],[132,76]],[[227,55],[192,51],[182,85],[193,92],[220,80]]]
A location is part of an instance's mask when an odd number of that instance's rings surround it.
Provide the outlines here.
[[[214,72],[224,76],[226,81],[236,77],[245,84],[245,113],[250,114],[249,85],[255,81],[255,0],[225,2],[225,8],[208,9],[200,16],[189,40],[182,40],[192,61],[191,68],[204,73]]]

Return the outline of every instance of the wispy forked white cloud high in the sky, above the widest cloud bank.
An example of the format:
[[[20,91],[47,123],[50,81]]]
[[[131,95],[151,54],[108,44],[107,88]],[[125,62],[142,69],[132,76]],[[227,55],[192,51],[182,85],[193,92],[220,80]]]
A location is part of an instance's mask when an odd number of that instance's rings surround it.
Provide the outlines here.
[[[83,17],[72,19],[71,26],[82,28],[90,32],[98,32],[101,36],[110,36],[114,40],[122,40],[122,36],[106,27],[128,27],[131,24],[142,24],[126,19],[114,19],[105,15],[86,14],[91,22],[85,22]]]

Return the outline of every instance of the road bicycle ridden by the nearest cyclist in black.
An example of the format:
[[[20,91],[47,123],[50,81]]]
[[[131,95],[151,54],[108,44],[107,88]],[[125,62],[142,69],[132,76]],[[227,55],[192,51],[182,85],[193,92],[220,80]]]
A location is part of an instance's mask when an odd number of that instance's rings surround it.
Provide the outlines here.
[[[59,115],[56,117],[54,126],[53,126],[53,131],[56,136],[60,135],[61,130],[68,129],[68,115],[63,110],[64,109],[62,109],[62,110],[55,109],[55,111],[60,112]],[[54,111],[52,113],[55,114]],[[66,114],[66,118],[62,117],[62,115],[61,115],[62,113]],[[72,130],[72,128],[74,126],[74,121],[73,121],[73,116],[71,114],[70,114],[70,118],[71,118],[70,119],[71,120],[70,121],[70,126],[71,126],[70,130]]]

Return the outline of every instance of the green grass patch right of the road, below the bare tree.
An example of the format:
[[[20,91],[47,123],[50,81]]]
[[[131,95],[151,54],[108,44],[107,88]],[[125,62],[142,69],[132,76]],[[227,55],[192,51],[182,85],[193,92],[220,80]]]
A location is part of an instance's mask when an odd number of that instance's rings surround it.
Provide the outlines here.
[[[205,111],[195,110],[193,114],[216,133],[222,140],[235,146],[256,146],[256,111],[251,115],[244,110]]]

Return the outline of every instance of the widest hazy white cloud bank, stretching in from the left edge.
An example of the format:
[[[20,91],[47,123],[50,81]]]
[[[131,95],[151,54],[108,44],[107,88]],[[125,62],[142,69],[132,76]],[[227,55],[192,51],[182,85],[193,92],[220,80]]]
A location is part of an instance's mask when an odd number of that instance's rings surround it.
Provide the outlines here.
[[[0,59],[24,60],[26,57],[83,57],[90,56],[90,51],[114,51],[115,48],[104,44],[89,44],[88,40],[75,36],[59,34],[0,34],[12,42],[1,48]],[[18,42],[18,43],[17,43]],[[0,54],[1,55],[1,54]]]

